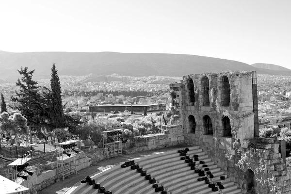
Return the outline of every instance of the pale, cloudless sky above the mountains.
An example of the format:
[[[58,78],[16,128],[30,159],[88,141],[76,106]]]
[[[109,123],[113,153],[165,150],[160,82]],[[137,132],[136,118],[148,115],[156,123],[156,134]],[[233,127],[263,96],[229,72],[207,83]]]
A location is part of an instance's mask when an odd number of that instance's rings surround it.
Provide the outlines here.
[[[0,0],[0,50],[177,53],[291,68],[291,0]]]

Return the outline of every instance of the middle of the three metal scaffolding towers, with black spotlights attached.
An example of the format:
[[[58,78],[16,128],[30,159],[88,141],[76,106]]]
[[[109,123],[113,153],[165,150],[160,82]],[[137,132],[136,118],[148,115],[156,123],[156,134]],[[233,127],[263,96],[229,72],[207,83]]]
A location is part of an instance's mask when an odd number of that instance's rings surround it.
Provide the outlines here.
[[[62,178],[64,180],[64,178],[68,176],[71,178],[71,175],[74,173],[77,175],[77,153],[75,153],[72,149],[67,149],[66,153],[70,154],[70,157],[68,157],[67,154],[63,153],[63,151],[65,146],[78,143],[79,137],[75,137],[56,145],[58,178]]]

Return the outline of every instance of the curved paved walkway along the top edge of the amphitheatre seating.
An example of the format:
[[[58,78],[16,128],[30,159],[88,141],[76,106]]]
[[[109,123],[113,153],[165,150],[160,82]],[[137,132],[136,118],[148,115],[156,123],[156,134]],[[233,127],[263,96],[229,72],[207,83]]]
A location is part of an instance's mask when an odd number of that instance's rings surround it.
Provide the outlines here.
[[[134,160],[137,158],[150,156],[156,153],[161,153],[164,151],[168,151],[171,149],[176,149],[187,147],[186,145],[172,146],[172,147],[164,147],[161,149],[154,149],[146,152],[128,154],[123,156],[117,156],[116,158],[112,158],[109,160],[103,160],[97,163],[97,166],[89,166],[88,168],[82,169],[77,172],[77,175],[71,176],[71,178],[65,178],[64,181],[59,181],[53,185],[50,185],[48,188],[37,192],[38,194],[65,194],[65,191],[72,187],[75,183],[81,181],[81,179],[87,177],[88,175],[97,174],[102,169],[112,167],[113,165],[119,165],[122,162],[126,162],[127,160]]]

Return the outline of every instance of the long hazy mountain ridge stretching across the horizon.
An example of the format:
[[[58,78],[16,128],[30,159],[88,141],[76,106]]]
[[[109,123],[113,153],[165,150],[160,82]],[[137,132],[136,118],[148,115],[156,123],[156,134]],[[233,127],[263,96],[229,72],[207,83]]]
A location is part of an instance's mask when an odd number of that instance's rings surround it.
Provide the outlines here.
[[[0,51],[0,83],[16,81],[17,69],[28,66],[34,79],[50,78],[52,63],[59,75],[175,76],[223,71],[257,71],[258,74],[291,76],[279,65],[253,64],[185,54],[119,52],[6,52]],[[97,79],[98,80],[98,79]]]

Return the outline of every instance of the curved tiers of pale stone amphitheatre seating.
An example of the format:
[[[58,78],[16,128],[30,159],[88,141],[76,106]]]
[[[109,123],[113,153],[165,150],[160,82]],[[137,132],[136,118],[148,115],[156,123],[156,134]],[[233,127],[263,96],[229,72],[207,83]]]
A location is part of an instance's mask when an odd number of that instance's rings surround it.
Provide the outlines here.
[[[199,155],[199,161],[204,161],[208,165],[211,173],[214,175],[213,182],[221,181],[224,185],[223,194],[241,194],[241,190],[230,181],[223,171],[217,167],[214,162],[198,146],[188,147],[190,158]],[[196,162],[196,164],[199,163]],[[147,175],[155,178],[159,186],[167,190],[167,194],[218,194],[212,192],[205,181],[198,181],[201,178],[191,170],[184,160],[180,160],[180,154],[177,149],[166,152],[156,153],[151,156],[142,157],[134,160],[135,164],[146,170]],[[201,164],[200,164],[201,165]],[[202,167],[202,165],[201,165]],[[204,168],[202,168],[204,170]],[[225,176],[225,180],[220,180],[220,176]],[[137,173],[137,170],[131,170],[130,167],[121,168],[116,165],[97,175],[90,176],[97,183],[106,188],[106,191],[112,191],[113,194],[161,194],[155,192],[152,184],[145,177]],[[66,194],[98,194],[98,189],[87,183],[77,183],[71,191]]]

